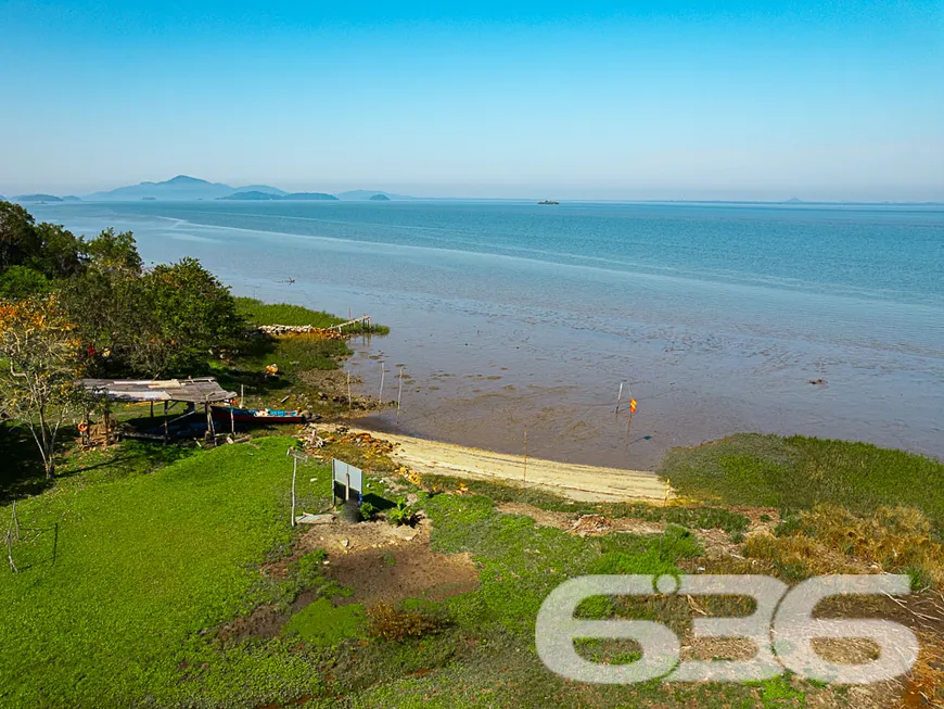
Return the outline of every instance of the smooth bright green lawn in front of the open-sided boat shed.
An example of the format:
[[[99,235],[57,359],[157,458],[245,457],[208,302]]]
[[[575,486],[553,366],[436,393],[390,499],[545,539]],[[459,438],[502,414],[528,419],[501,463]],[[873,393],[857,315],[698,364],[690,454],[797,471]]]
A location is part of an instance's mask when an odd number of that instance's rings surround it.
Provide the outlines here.
[[[304,648],[200,634],[297,592],[299,580],[258,572],[292,540],[292,443],[224,446],[150,474],[123,445],[20,502],[21,573],[0,573],[0,704],[252,706],[316,691]],[[307,468],[303,507],[317,507],[330,473]]]

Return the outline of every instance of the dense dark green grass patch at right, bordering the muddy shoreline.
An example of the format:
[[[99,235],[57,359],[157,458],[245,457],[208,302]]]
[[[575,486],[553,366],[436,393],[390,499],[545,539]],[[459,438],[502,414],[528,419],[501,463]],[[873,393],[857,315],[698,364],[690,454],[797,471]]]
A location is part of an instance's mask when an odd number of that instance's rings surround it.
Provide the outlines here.
[[[856,514],[907,505],[944,526],[944,464],[868,443],[742,433],[672,451],[659,472],[681,495],[717,504],[831,503]]]

